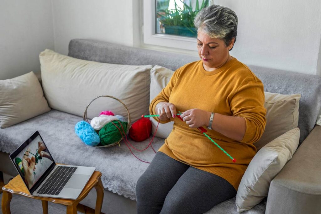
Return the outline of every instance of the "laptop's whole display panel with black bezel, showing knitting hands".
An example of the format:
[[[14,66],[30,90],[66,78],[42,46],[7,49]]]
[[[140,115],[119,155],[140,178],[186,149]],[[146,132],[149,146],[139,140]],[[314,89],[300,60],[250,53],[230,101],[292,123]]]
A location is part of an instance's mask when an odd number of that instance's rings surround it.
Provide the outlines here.
[[[35,190],[37,181],[43,180],[46,177],[44,175],[50,172],[49,169],[55,165],[38,131],[18,147],[10,158],[31,194]]]

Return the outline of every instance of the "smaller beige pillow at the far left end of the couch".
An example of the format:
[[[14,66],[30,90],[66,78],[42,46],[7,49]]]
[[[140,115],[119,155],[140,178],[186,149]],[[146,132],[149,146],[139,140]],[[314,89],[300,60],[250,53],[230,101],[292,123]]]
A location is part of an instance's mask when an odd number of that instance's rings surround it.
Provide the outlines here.
[[[37,76],[0,80],[0,127],[6,128],[50,111]]]

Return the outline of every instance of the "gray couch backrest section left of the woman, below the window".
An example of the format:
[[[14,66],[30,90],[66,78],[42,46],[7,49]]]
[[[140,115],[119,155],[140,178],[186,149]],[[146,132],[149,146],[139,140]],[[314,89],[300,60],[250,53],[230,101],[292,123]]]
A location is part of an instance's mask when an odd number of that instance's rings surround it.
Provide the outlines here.
[[[198,57],[194,56],[126,47],[86,39],[70,40],[68,56],[112,64],[159,65],[173,71],[189,62],[199,60]],[[126,59],[126,61],[123,59]]]

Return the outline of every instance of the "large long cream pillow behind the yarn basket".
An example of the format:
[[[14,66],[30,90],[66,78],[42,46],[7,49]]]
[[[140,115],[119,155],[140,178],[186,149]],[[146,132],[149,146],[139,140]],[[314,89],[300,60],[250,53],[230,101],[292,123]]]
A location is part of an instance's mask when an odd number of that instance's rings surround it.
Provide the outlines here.
[[[86,106],[97,96],[111,95],[126,104],[131,122],[149,112],[151,65],[132,66],[100,63],[68,57],[46,49],[39,55],[42,87],[49,106],[83,116]],[[100,97],[87,110],[87,118],[101,111],[128,117],[117,100]]]

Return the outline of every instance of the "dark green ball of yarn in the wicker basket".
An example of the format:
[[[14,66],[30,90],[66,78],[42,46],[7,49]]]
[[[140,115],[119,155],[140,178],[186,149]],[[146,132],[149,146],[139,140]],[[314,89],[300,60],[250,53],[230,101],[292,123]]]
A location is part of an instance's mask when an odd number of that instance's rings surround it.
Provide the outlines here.
[[[119,132],[117,127],[113,124],[115,123],[116,126],[121,130],[122,133]],[[121,127],[121,125],[124,128]],[[100,144],[105,146],[108,144],[112,144],[115,142],[118,142],[124,135],[126,135],[127,131],[127,122],[123,122],[120,120],[114,120],[112,122],[107,123],[102,129],[99,131],[99,137],[100,137]],[[125,132],[125,134],[124,134]]]

